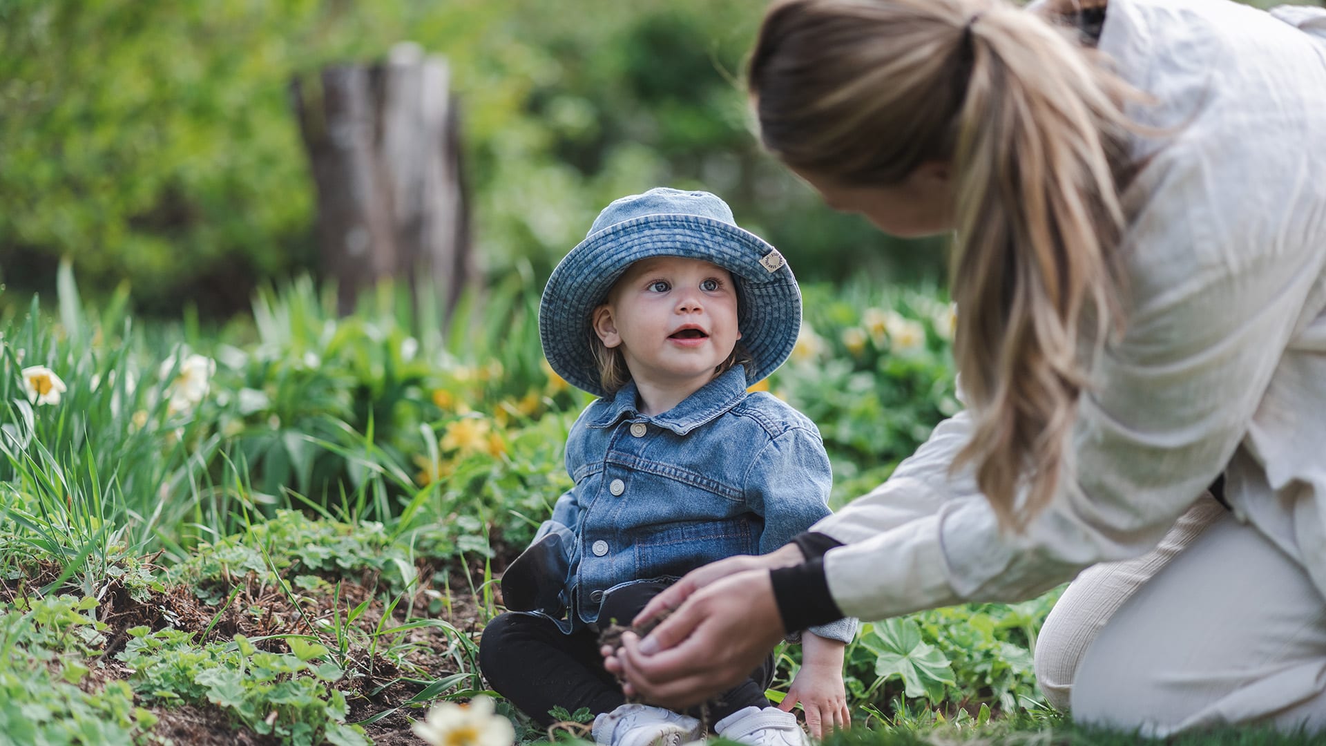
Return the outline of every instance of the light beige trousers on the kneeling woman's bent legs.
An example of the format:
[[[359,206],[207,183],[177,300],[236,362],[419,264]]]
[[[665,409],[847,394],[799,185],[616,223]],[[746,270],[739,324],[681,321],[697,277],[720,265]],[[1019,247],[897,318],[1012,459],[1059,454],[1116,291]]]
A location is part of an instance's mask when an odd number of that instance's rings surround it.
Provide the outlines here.
[[[1036,645],[1078,722],[1163,737],[1209,725],[1326,727],[1326,599],[1256,528],[1201,498],[1140,558],[1083,571]]]

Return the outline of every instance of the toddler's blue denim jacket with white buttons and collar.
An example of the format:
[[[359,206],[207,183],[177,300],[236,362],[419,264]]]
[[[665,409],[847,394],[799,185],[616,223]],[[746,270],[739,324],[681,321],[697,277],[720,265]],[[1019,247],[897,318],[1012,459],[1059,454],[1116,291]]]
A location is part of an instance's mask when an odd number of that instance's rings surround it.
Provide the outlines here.
[[[597,625],[603,595],[623,584],[770,552],[830,514],[819,431],[776,397],[747,393],[744,368],[655,417],[635,401],[631,382],[581,413],[566,441],[575,486],[534,538],[561,535],[564,556],[545,563],[565,571],[549,604],[561,608],[533,613],[566,633]],[[855,629],[845,619],[812,631],[849,642]]]

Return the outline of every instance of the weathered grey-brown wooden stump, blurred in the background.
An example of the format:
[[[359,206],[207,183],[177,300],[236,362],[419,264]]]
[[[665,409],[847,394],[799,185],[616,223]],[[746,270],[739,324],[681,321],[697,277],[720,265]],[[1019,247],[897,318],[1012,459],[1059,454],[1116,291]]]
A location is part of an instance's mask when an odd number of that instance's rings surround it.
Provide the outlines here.
[[[386,62],[329,66],[290,88],[341,312],[395,279],[438,293],[450,313],[475,268],[446,60],[403,42]]]

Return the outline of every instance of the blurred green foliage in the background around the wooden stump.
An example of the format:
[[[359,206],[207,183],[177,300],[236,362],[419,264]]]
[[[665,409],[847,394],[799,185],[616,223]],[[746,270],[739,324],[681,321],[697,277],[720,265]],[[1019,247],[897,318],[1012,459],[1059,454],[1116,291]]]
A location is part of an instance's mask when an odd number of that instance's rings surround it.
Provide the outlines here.
[[[138,312],[244,309],[313,268],[292,76],[411,38],[452,64],[476,251],[542,277],[609,200],[711,188],[805,277],[934,273],[758,151],[740,81],[762,0],[0,3],[0,267],[134,284]],[[890,259],[892,258],[892,259]],[[316,269],[316,268],[314,268]],[[8,297],[23,297],[24,292]]]

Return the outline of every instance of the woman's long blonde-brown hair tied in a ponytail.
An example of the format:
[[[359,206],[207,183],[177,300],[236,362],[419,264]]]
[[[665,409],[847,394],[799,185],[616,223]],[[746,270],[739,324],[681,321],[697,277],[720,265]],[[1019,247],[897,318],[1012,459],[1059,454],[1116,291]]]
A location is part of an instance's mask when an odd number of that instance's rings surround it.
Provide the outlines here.
[[[1081,354],[1122,321],[1119,102],[1135,94],[1002,0],[777,3],[749,90],[793,169],[887,186],[949,165],[953,352],[975,421],[953,466],[973,463],[1001,523],[1025,527],[1071,477]]]

